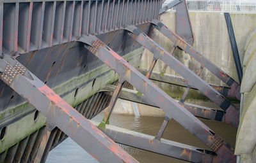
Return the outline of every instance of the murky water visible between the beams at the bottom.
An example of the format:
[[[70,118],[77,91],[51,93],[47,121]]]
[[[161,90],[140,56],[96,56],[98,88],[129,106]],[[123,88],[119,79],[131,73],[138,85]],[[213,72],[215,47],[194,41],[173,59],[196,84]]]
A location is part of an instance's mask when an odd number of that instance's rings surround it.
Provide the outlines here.
[[[101,121],[103,113],[97,115],[93,118],[95,121]],[[130,129],[132,131],[142,132],[144,134],[150,134],[155,136],[159,131],[164,118],[162,117],[136,117],[129,115],[112,115],[111,125],[116,125],[118,127],[123,127],[125,129]],[[200,119],[208,127],[210,127],[214,132],[219,134],[222,138],[230,143],[231,146],[235,146],[236,142],[236,128],[232,125],[228,125],[222,122],[214,122],[211,120]],[[179,141],[180,143],[186,143],[188,145],[197,146],[200,148],[207,148],[203,143],[201,143],[195,136],[190,132],[186,131],[181,125],[179,125],[175,120],[170,120],[166,130],[163,134],[164,139],[170,139],[172,141]],[[171,157],[166,157],[163,155],[158,155],[156,153],[147,152],[137,148],[132,148],[130,146],[120,145],[124,150],[130,153],[139,162],[185,162],[183,160],[173,159]],[[93,159],[88,153],[86,153],[83,148],[77,145],[72,139],[68,138],[60,145],[56,146],[47,158],[47,163],[69,163],[69,162],[92,162],[97,163],[97,160]]]

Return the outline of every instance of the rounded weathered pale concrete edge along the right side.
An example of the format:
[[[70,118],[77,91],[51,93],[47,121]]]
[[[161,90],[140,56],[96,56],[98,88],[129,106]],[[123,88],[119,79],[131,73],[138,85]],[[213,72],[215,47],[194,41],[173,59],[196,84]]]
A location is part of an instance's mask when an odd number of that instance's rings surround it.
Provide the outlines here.
[[[250,163],[256,162],[256,26],[250,30],[244,50],[243,103],[235,154],[241,155],[241,162]]]

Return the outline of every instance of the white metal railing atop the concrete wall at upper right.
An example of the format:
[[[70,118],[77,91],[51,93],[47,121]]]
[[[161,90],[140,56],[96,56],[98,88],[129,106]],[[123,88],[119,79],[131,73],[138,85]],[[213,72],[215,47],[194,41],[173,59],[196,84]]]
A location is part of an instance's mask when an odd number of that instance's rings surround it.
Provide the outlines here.
[[[163,6],[173,0],[166,0]],[[220,11],[220,12],[240,12],[256,13],[256,1],[187,1],[188,10],[190,11]],[[170,9],[175,10],[175,7]]]

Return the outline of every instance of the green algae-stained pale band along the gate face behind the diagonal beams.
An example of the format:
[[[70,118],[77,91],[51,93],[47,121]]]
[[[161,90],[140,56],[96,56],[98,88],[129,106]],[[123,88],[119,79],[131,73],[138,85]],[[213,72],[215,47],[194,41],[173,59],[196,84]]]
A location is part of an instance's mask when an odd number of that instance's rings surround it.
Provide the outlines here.
[[[143,50],[144,48],[138,48],[125,55],[124,59],[129,60],[130,64],[137,67]],[[93,80],[95,80],[95,83],[92,87]],[[118,80],[118,74],[112,71],[108,66],[102,65],[93,69],[93,71],[90,71],[89,73],[82,74],[81,76],[77,76],[76,78],[66,81],[58,87],[54,87],[52,90],[67,101],[68,104],[75,107],[77,104],[82,103],[84,100],[88,99],[88,97],[93,96],[93,94],[96,94],[99,90],[106,87],[106,85],[112,84],[116,80]],[[79,90],[76,97],[74,97],[77,87]],[[67,95],[63,96],[64,94]],[[38,131],[38,129],[46,124],[46,118],[41,113],[36,121],[34,120],[35,112],[26,115],[26,113],[33,110],[35,110],[35,108],[31,104],[24,102],[14,108],[8,108],[0,113],[0,125],[8,124],[7,120],[15,120],[15,118],[22,117],[17,122],[6,125],[6,136],[3,141],[0,141],[0,153],[4,152],[4,150],[7,150],[33,132]]]

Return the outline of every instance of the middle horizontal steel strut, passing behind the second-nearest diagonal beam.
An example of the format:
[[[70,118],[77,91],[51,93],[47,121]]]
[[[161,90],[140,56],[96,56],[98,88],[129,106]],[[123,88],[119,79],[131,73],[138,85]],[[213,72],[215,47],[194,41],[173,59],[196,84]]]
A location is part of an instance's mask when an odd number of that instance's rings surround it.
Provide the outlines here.
[[[115,89],[116,89],[115,85],[108,85],[101,91],[104,92],[104,94],[108,94],[112,96]],[[138,90],[123,88],[119,94],[119,98],[125,99],[127,101],[132,101],[135,103],[146,104],[148,106],[154,106],[159,108],[156,104],[148,100],[143,94],[141,95],[140,92],[138,92]],[[222,121],[221,117],[225,115],[225,111],[216,110],[214,108],[207,108],[207,107],[199,106],[196,104],[183,103],[182,106],[184,106],[184,108],[186,108],[186,110],[188,110],[195,117],[205,118],[209,120]]]

